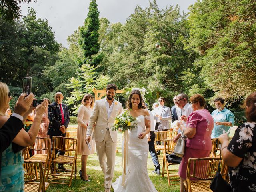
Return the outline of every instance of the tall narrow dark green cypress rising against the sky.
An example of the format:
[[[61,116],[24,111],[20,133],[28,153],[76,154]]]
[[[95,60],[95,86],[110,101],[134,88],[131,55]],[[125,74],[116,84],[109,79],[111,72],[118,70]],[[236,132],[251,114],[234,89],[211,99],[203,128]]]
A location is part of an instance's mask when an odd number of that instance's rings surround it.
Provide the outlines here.
[[[82,49],[84,50],[84,63],[91,64],[94,66],[98,66],[98,64],[102,60],[102,56],[96,55],[100,50],[100,44],[98,43],[98,30],[100,28],[100,12],[98,11],[97,7],[98,5],[96,4],[96,0],[91,0],[87,18],[84,20],[84,26],[80,31],[81,39],[79,40],[79,44],[82,46]],[[80,64],[80,66],[81,65],[82,64]]]

